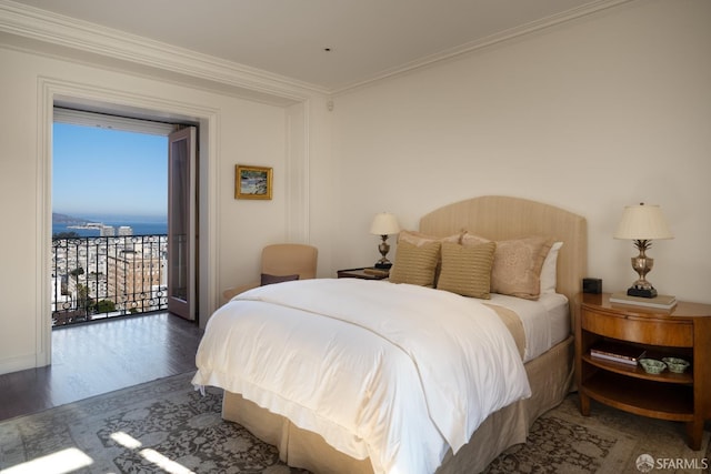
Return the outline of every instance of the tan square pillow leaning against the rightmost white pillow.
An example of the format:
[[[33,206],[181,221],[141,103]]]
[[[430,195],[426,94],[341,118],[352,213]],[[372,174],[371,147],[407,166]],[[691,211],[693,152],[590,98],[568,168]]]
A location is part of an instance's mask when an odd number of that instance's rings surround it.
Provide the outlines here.
[[[491,291],[538,300],[541,268],[553,241],[541,236],[497,242],[491,270]]]

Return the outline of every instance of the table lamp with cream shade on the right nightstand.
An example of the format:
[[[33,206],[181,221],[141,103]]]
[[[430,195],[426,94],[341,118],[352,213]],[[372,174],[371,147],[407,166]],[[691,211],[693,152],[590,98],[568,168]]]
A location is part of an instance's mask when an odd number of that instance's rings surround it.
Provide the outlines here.
[[[667,221],[659,205],[627,205],[622,212],[622,220],[614,233],[615,239],[630,239],[639,250],[639,255],[632,256],[632,269],[639,279],[627,291],[629,296],[654,297],[657,290],[647,281],[647,274],[654,266],[654,259],[645,252],[652,246],[653,239],[673,239]]]

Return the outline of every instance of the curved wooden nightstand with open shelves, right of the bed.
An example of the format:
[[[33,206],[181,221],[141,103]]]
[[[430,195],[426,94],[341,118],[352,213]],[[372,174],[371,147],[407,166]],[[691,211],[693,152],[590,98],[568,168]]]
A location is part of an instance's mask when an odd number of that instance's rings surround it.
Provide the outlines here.
[[[688,444],[701,448],[703,423],[711,418],[711,304],[679,302],[657,310],[610,302],[610,294],[578,295],[575,382],[580,412],[590,400],[638,415],[684,422]],[[691,362],[684,373],[658,375],[639,365],[591,356],[601,342],[647,351],[647,357]]]

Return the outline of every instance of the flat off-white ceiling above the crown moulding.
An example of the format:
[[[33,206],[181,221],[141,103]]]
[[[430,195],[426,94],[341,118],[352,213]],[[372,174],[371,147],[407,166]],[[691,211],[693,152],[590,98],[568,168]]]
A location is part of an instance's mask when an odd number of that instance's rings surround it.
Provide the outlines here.
[[[388,77],[620,1],[16,0],[327,91]]]

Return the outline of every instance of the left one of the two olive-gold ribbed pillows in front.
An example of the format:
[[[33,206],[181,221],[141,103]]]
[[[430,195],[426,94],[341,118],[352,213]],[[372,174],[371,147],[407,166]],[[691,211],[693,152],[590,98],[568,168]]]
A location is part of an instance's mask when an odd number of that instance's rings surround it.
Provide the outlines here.
[[[408,241],[401,241],[395,251],[395,262],[390,269],[390,281],[433,288],[434,271],[439,260],[439,242],[414,245]]]

